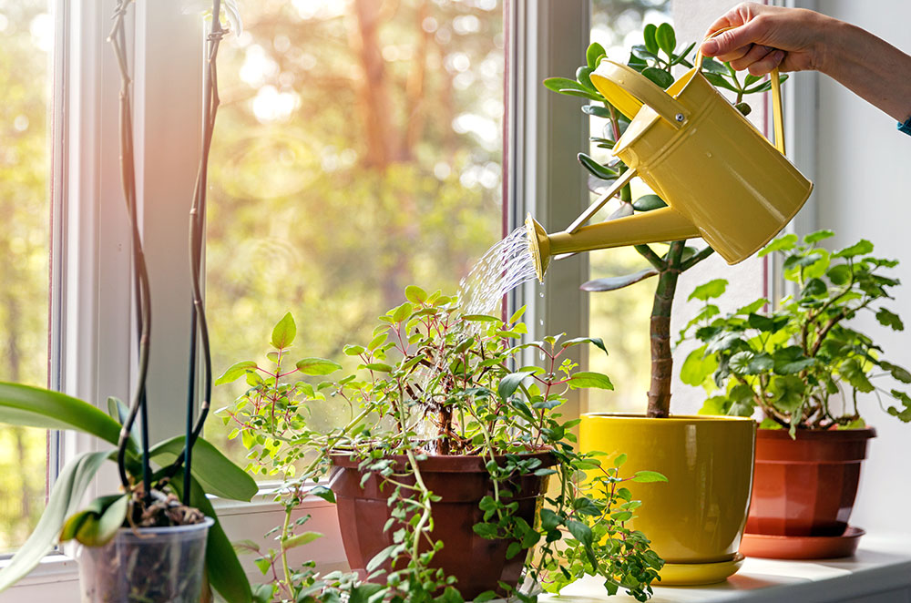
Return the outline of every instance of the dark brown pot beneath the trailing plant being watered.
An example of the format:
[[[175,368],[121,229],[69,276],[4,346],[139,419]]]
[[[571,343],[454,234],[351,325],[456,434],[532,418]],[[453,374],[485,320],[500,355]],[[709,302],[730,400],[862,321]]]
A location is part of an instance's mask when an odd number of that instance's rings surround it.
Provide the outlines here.
[[[549,452],[535,453],[544,465],[554,465],[556,459]],[[347,455],[332,455],[337,469],[332,477],[332,489],[338,506],[339,525],[348,564],[353,570],[363,570],[377,553],[393,544],[394,529],[383,531],[390,518],[386,506],[393,492],[391,485],[381,488],[384,480],[371,475],[361,487],[362,473],[358,461]],[[395,460],[404,466],[405,459]],[[432,503],[434,516],[433,537],[442,540],[444,548],[434,556],[434,567],[442,567],[458,582],[456,587],[466,600],[475,598],[486,590],[498,590],[502,580],[515,587],[521,577],[526,555],[519,553],[507,559],[506,540],[487,540],[475,534],[472,526],[480,523],[484,512],[478,503],[486,495],[493,495],[493,485],[479,456],[430,456],[420,461],[421,477],[439,502]],[[402,480],[414,484],[414,478]],[[519,504],[517,516],[534,525],[537,506],[548,485],[548,477],[524,475],[514,482],[517,496],[510,500]],[[383,566],[387,571],[389,564]]]

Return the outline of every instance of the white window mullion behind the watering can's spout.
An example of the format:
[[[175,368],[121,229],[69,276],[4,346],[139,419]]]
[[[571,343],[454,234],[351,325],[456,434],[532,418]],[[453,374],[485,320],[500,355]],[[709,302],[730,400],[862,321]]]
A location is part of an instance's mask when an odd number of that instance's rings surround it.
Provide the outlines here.
[[[589,42],[588,0],[514,2],[510,5],[511,40],[508,132],[510,225],[522,225],[528,212],[548,231],[565,229],[589,204],[584,170],[576,154],[588,148],[589,122],[580,100],[550,92],[547,77],[573,77]],[[529,282],[510,300],[527,305],[529,335],[586,334],[588,298],[578,287],[589,277],[589,258],[578,254],[554,261],[544,285]],[[543,293],[543,297],[541,294]],[[587,363],[586,346],[573,348],[572,359]],[[526,358],[526,363],[538,362]],[[570,393],[567,414],[585,410],[584,390]]]

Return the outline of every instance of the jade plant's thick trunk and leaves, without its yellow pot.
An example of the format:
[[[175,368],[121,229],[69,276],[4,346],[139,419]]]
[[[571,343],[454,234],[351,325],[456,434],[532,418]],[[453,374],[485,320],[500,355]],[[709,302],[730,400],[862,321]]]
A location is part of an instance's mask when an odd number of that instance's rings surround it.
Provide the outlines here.
[[[645,43],[633,46],[627,66],[648,77],[661,88],[668,88],[674,83],[671,70],[674,66],[692,67],[687,56],[691,55],[695,44],[677,50],[677,37],[669,24],[660,26],[647,25],[643,30]],[[605,50],[598,43],[589,46],[586,52],[586,64],[578,67],[576,77],[551,77],[544,81],[549,89],[573,97],[587,98],[593,104],[582,107],[586,115],[606,120],[601,136],[591,137],[598,148],[611,149],[626,131],[630,119],[613,107],[608,100],[591,83],[591,73],[606,56]],[[695,59],[693,59],[695,60]],[[748,95],[765,92],[771,89],[769,81],[747,75],[741,76],[730,65],[722,65],[711,58],[702,60],[702,73],[712,86],[732,92],[735,107],[743,115],[750,112],[750,106],[743,101]],[[781,77],[784,81],[786,76]],[[618,179],[628,168],[619,159],[607,163],[600,162],[587,153],[579,153],[578,161],[589,171],[589,187],[593,192],[605,186],[606,182]],[[632,199],[632,189],[627,185],[619,190],[619,208],[608,220],[630,216],[640,211],[657,210],[667,204],[655,194],[647,194]],[[708,258],[711,247],[701,249],[687,245],[686,240],[670,242],[666,250],[656,250],[655,245],[636,245],[635,249],[647,262],[643,270],[625,276],[611,277],[589,281],[582,286],[585,291],[616,291],[629,287],[639,281],[658,277],[655,298],[651,311],[651,384],[649,389],[648,414],[653,417],[665,417],[670,414],[670,383],[673,370],[673,359],[670,349],[670,312],[674,293],[681,272],[690,270],[699,262]]]

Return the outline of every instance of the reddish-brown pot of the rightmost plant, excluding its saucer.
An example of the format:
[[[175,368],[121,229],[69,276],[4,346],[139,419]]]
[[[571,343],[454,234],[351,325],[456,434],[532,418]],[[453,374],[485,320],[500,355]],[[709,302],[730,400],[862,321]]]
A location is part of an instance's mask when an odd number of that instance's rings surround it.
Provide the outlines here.
[[[854,507],[860,465],[873,428],[796,432],[760,429],[750,534],[837,537]]]

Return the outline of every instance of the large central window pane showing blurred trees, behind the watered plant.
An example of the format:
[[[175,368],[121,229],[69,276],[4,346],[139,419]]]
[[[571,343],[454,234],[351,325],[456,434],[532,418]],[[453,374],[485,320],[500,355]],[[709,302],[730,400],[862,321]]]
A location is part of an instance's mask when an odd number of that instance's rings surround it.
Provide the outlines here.
[[[501,236],[500,0],[246,0],[219,57],[207,307],[216,372],[264,360],[293,312],[301,356],[341,361],[404,287],[455,292]],[[244,385],[220,386],[216,407]],[[312,409],[314,421],[347,406]],[[206,437],[234,458],[218,417]]]

